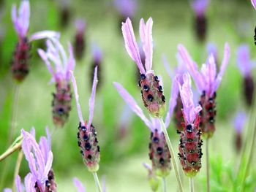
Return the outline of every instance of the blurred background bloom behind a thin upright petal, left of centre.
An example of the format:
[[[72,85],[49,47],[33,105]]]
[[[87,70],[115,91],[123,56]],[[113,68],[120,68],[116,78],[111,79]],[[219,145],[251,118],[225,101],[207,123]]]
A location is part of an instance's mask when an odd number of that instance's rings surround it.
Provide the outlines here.
[[[91,45],[92,63],[91,63],[91,85],[94,82],[94,69],[97,66],[97,77],[102,82],[102,49],[95,43]],[[98,83],[99,87],[101,83]]]

